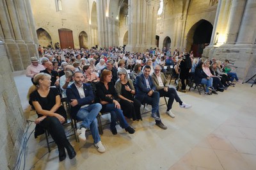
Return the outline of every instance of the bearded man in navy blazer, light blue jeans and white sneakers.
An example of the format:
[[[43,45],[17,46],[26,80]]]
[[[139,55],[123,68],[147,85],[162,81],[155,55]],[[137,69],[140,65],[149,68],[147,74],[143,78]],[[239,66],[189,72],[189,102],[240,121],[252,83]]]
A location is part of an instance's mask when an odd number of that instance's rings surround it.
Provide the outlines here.
[[[77,129],[78,137],[81,141],[86,141],[85,132],[90,128],[94,145],[100,153],[105,152],[105,148],[100,141],[97,115],[102,109],[101,104],[93,104],[94,95],[90,84],[83,83],[84,75],[77,71],[73,74],[74,83],[67,88],[67,98],[71,105],[71,116],[82,121],[80,129]]]

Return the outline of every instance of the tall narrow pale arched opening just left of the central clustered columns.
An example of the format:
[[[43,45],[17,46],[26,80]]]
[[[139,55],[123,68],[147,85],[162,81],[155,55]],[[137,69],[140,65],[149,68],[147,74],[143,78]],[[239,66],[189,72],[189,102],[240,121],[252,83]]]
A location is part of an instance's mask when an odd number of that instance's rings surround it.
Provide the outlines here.
[[[91,13],[91,33],[92,33],[92,45],[96,47],[99,45],[98,42],[98,24],[97,24],[97,8],[96,3],[93,1],[92,13]]]

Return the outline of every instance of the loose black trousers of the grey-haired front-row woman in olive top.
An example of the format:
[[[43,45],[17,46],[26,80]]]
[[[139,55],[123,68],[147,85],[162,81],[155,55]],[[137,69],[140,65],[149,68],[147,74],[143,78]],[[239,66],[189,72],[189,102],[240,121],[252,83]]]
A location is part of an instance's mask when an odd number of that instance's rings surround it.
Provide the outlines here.
[[[123,110],[124,116],[132,118],[132,120],[142,120],[140,113],[141,103],[136,98],[132,98],[133,103],[127,100],[120,100],[121,109]]]

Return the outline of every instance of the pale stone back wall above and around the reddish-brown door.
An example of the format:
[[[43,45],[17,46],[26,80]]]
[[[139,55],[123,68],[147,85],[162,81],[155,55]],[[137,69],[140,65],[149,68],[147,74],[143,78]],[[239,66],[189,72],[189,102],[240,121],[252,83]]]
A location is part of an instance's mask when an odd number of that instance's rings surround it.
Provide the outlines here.
[[[91,47],[91,33],[89,25],[89,8],[87,1],[61,1],[62,9],[52,0],[31,1],[36,30],[44,29],[49,33],[52,45],[60,42],[58,29],[73,31],[74,47],[79,48],[79,34],[84,31],[88,36]],[[40,39],[40,38],[39,38]],[[40,41],[39,41],[40,43]]]

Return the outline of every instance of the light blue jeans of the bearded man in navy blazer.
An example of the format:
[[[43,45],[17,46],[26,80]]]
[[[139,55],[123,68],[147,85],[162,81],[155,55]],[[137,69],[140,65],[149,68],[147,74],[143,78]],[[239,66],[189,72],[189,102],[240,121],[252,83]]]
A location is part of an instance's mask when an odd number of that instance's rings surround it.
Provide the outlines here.
[[[94,143],[100,141],[98,121],[96,117],[101,109],[101,104],[90,104],[87,107],[81,108],[76,114],[76,119],[82,121],[81,127],[90,127]]]

